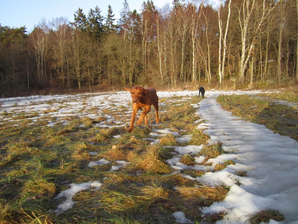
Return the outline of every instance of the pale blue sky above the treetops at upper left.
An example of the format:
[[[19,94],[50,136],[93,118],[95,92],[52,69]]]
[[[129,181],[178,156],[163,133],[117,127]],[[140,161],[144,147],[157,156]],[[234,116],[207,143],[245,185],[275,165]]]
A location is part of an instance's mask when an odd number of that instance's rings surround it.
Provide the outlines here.
[[[127,0],[129,9],[136,9],[140,12],[144,0]],[[147,0],[146,0],[147,1]],[[157,8],[165,4],[172,6],[173,0],[153,0]],[[101,10],[101,15],[106,16],[108,5],[110,4],[115,14],[114,18],[119,19],[119,12],[123,8],[124,0],[0,0],[0,24],[1,26],[22,27],[26,26],[27,31],[33,30],[34,25],[45,19],[46,22],[52,21],[57,17],[66,17],[70,22],[74,20],[74,13],[80,7],[83,13],[88,15],[90,8],[96,5]]]

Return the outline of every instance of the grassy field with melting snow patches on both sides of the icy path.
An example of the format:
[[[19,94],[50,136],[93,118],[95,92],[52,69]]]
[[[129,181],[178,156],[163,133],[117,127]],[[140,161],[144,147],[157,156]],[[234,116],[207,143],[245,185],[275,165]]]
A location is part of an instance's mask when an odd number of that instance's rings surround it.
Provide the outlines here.
[[[204,100],[211,99],[206,93]],[[297,140],[296,104],[271,104],[272,94],[221,92],[218,102],[243,119]],[[153,107],[149,125],[136,125],[131,133],[126,130],[128,92],[2,99],[0,223],[224,220],[226,210],[206,208],[224,201],[247,173],[237,169],[233,151],[225,151],[222,141],[199,128],[206,120],[199,113],[203,98],[197,95],[158,92],[160,123],[156,125]],[[200,181],[207,173],[228,169],[235,171],[231,184]],[[270,219],[284,216],[265,209],[246,217],[250,223]]]

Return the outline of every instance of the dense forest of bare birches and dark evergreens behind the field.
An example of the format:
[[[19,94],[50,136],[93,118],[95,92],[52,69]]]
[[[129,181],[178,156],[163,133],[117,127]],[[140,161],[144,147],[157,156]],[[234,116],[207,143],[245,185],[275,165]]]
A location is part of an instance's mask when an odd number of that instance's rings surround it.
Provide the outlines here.
[[[140,13],[126,0],[117,23],[111,6],[42,20],[30,33],[0,24],[0,93],[31,89],[149,84],[175,87],[291,82],[297,72],[296,0],[184,2]],[[117,25],[116,25],[117,24]]]

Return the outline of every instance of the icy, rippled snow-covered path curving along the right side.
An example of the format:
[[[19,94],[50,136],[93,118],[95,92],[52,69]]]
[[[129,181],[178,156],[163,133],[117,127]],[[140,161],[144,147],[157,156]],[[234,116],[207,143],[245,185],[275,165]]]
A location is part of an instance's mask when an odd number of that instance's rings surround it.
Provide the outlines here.
[[[240,120],[221,109],[215,99],[218,92],[209,94],[199,102],[197,113],[205,123],[198,128],[206,129],[211,141],[222,142],[223,149],[236,156],[236,164],[200,178],[211,185],[232,182],[224,201],[204,212],[227,212],[217,223],[247,223],[249,215],[273,209],[284,215],[280,223],[298,223],[298,142],[264,125]],[[247,171],[247,176],[236,176],[235,170]]]

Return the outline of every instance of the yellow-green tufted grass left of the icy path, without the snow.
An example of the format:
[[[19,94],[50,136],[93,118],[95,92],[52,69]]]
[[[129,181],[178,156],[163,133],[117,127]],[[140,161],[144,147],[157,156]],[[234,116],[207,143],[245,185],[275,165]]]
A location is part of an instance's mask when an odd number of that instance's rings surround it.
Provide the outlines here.
[[[170,147],[201,145],[208,140],[193,125],[199,117],[194,115],[195,109],[190,104],[198,103],[201,98],[189,97],[187,101],[182,98],[164,100],[160,109],[168,112],[160,113],[161,122],[154,128],[192,134],[192,140],[183,144],[168,134],[159,137],[159,144],[150,145],[144,140],[150,137],[150,125],[136,125],[133,133],[127,133],[124,128],[97,127],[95,124],[106,120],[100,116],[97,119],[70,116],[65,125],[57,122],[48,127],[49,121],[58,121],[51,116],[58,109],[45,111],[44,120],[33,125],[28,123],[36,113],[2,112],[1,116],[12,121],[0,124],[0,223],[174,223],[171,215],[174,211],[183,211],[192,221],[203,220],[200,208],[206,202],[209,205],[218,200],[212,194],[223,193],[212,193],[212,188],[208,191],[201,186],[201,195],[195,192],[196,196],[190,197],[186,188],[194,191],[191,189],[198,183],[173,174],[165,162],[173,157]],[[113,103],[111,107],[105,113],[115,119],[123,119],[119,112],[131,109],[120,107],[117,111]],[[60,108],[65,109],[65,105]],[[154,108],[148,119],[154,123]],[[115,135],[121,137],[114,138]],[[102,158],[110,163],[88,166],[89,162]],[[130,163],[110,172],[119,160]],[[190,155],[183,156],[181,162],[195,164]],[[194,177],[204,174],[196,170],[183,173]],[[55,196],[69,189],[70,183],[94,180],[103,183],[103,187],[77,192],[73,208],[61,215],[53,212],[60,203]],[[173,190],[177,187],[185,189],[182,193]]]

